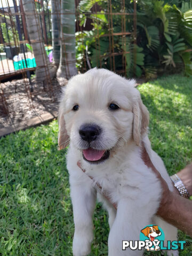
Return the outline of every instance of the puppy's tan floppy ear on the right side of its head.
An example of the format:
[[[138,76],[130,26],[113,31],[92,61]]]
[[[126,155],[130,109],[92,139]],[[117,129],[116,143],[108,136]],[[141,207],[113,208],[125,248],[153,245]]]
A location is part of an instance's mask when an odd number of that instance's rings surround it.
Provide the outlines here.
[[[133,139],[139,146],[141,135],[147,132],[149,125],[149,111],[142,103],[140,95],[133,102]]]

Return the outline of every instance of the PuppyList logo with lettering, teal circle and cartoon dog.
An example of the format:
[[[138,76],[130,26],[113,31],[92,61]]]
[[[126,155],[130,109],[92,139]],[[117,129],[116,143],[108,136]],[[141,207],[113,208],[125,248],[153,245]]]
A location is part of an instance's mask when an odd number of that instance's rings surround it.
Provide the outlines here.
[[[183,250],[186,241],[167,241],[164,246],[165,235],[161,227],[157,225],[148,225],[141,229],[140,241],[122,241],[122,250],[130,248],[131,250],[142,250],[143,247],[147,251],[159,250]]]

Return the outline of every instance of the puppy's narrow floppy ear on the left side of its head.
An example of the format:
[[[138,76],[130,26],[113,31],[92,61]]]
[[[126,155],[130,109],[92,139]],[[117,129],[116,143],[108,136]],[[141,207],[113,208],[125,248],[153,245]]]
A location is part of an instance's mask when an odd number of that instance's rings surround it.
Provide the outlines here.
[[[69,135],[67,134],[67,131],[66,131],[65,119],[62,112],[59,113],[58,121],[59,121],[58,145],[59,145],[59,150],[61,150],[63,148],[66,148],[69,144]]]

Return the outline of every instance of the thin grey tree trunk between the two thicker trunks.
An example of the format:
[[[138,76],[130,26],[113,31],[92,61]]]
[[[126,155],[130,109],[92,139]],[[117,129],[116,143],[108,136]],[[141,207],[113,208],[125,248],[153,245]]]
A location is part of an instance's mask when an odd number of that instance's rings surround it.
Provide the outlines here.
[[[57,67],[60,61],[60,11],[60,0],[51,0],[53,63]]]

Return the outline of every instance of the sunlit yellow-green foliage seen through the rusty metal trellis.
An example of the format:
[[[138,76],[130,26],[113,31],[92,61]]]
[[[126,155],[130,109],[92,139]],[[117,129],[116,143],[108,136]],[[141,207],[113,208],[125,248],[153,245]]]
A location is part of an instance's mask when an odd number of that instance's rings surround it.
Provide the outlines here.
[[[125,3],[125,6],[130,7],[132,4]],[[109,20],[107,10],[110,8],[108,1],[106,0],[97,0],[89,1],[82,0],[77,6],[77,12],[80,13],[81,17],[81,26],[84,26],[86,23],[87,13],[89,18],[92,20],[93,29],[91,31],[78,32],[77,37],[81,38],[81,41],[77,40],[76,44],[76,56],[79,59],[85,59],[85,56],[82,55],[81,50],[84,50],[87,47],[88,53],[90,55],[90,61],[92,67],[102,67],[113,70],[122,70],[123,63],[125,63],[125,55],[123,53],[122,47],[122,37],[113,36],[113,41],[109,39],[109,33],[119,33],[122,30],[122,18],[119,15],[113,15]],[[115,12],[124,12],[122,10],[122,5],[117,0],[113,0],[111,4],[111,10]],[[128,22],[126,19],[126,28],[125,30],[131,29],[132,22]],[[109,30],[109,26],[113,22],[113,31]],[[128,26],[127,26],[128,25]],[[111,38],[111,37],[110,37]],[[124,38],[127,40],[127,38]],[[113,50],[112,50],[113,49]],[[87,53],[86,52],[86,53]],[[113,53],[111,55],[111,53]],[[79,66],[81,68],[81,61],[79,61]]]

